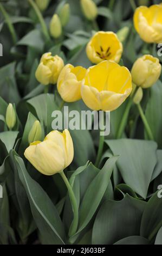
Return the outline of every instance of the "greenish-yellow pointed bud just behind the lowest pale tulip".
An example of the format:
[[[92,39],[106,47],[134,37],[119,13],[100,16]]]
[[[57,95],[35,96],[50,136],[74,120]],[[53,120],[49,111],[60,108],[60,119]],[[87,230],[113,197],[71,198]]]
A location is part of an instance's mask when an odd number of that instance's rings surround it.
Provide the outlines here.
[[[36,120],[31,127],[31,130],[28,135],[29,144],[35,141],[40,141],[42,137],[42,127],[40,121]]]

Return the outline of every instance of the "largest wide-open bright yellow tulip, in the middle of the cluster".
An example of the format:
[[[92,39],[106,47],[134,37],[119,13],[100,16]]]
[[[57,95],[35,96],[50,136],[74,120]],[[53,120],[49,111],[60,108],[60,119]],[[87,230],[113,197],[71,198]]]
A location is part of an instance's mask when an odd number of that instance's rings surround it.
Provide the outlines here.
[[[131,73],[125,66],[105,60],[87,70],[81,95],[93,110],[113,111],[132,90]]]

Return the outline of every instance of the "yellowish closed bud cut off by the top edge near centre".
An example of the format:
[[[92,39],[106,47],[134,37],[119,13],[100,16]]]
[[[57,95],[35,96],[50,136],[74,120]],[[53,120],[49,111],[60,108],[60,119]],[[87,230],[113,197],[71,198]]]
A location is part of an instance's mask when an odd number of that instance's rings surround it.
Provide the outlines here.
[[[87,20],[93,21],[98,16],[98,8],[92,0],[81,0],[81,7]]]

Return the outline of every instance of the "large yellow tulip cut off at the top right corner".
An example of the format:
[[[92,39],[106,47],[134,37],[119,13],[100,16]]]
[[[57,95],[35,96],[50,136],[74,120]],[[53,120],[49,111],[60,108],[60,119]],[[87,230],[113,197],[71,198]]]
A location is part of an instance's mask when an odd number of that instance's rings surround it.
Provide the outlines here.
[[[162,42],[162,5],[137,8],[134,13],[134,27],[145,42]]]

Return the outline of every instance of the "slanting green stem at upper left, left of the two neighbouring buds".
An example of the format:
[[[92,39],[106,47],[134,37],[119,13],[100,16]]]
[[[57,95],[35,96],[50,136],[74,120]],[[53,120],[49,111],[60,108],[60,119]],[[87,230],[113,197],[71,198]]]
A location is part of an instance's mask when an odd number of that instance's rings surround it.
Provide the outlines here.
[[[31,6],[33,7],[33,9],[35,10],[35,13],[38,17],[38,20],[41,23],[42,32],[43,32],[45,38],[47,39],[47,41],[49,41],[50,36],[49,36],[48,29],[47,29],[46,23],[44,22],[44,19],[43,19],[43,16],[42,16],[42,13],[41,13],[40,9],[37,7],[37,5],[35,4],[35,2],[33,0],[28,0],[28,1],[31,4]]]

